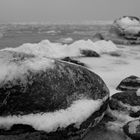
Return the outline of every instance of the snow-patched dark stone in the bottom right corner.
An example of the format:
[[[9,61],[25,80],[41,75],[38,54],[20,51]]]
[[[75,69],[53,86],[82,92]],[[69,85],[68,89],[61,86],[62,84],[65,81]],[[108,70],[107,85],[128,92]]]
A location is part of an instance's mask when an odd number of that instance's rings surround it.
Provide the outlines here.
[[[140,120],[128,122],[123,126],[123,131],[132,140],[140,140]]]

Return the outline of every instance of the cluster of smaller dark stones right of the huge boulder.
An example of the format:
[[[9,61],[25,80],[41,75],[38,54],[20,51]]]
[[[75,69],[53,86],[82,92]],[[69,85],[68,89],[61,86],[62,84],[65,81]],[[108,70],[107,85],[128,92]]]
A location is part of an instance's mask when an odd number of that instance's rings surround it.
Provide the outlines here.
[[[133,140],[140,139],[140,77],[129,76],[117,86],[121,90],[111,96],[110,114],[124,122],[124,133]]]

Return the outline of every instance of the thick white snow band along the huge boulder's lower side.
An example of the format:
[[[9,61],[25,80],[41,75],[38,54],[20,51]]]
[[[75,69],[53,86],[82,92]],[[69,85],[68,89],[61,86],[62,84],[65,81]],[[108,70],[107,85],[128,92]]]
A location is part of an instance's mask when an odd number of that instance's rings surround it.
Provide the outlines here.
[[[102,104],[101,99],[82,99],[75,101],[69,108],[56,112],[0,117],[0,126],[9,129],[13,124],[27,124],[36,130],[46,132],[56,131],[58,127],[65,128],[70,124],[79,127],[83,121],[99,110]]]

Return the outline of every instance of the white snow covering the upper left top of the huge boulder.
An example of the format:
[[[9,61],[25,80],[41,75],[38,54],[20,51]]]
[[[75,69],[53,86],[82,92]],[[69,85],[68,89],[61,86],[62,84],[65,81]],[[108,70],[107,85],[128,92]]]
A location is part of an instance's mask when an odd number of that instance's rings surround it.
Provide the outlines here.
[[[25,80],[25,75],[28,71],[45,70],[46,68],[53,68],[54,60],[44,57],[29,57],[24,58],[19,55],[14,57],[14,54],[8,51],[1,51],[0,53],[0,86],[6,81],[11,81],[17,78]],[[23,59],[23,60],[22,60]]]

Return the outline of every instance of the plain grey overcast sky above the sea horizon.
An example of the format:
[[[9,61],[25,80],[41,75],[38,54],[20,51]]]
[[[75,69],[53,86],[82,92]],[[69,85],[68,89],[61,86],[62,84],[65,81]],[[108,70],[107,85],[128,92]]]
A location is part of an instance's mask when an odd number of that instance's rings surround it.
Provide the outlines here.
[[[140,17],[140,0],[0,0],[0,23],[81,22]]]

